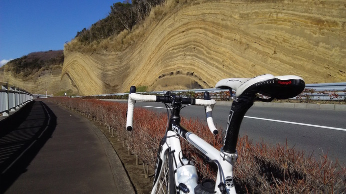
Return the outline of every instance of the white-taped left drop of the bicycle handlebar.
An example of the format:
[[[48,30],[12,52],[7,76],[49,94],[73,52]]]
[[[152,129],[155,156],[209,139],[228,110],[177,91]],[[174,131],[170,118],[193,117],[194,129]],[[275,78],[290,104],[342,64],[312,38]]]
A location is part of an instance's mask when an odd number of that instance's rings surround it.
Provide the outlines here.
[[[142,94],[136,94],[136,93],[130,93],[128,95],[128,101],[127,101],[127,118],[126,118],[126,130],[131,131],[132,130],[132,120],[133,120],[133,108],[134,104],[137,101],[143,101],[143,102],[155,102],[156,96],[152,95],[142,95]]]

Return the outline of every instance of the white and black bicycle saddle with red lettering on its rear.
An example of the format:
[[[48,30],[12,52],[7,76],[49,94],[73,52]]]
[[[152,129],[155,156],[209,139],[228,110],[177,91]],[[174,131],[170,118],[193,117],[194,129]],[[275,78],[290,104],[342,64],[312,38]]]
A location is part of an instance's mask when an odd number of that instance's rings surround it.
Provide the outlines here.
[[[305,88],[305,82],[301,77],[295,75],[264,74],[253,78],[222,79],[216,83],[215,88],[233,89],[236,98],[242,94],[259,93],[270,99],[286,99],[300,94]]]

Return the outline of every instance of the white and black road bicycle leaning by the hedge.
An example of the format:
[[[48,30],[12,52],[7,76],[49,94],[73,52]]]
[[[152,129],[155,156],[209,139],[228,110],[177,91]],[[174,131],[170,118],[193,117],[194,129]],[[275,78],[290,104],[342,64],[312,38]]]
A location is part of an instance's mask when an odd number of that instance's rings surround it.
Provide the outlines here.
[[[136,94],[135,87],[131,86],[128,95],[126,130],[132,130],[133,107],[136,101],[162,102],[167,108],[167,114],[169,113],[167,103],[172,107],[172,109],[169,108],[171,114],[165,135],[158,147],[151,194],[197,194],[200,192],[236,194],[233,183],[233,166],[237,160],[236,144],[239,128],[246,111],[256,100],[270,102],[275,98],[293,98],[303,91],[305,82],[301,77],[294,75],[275,77],[271,74],[264,74],[253,78],[222,79],[216,83],[215,88],[229,89],[230,97],[233,99],[228,115],[226,135],[220,150],[180,126],[180,110],[185,107],[182,105],[199,105],[205,107],[206,121],[211,133],[214,135],[218,133],[212,120],[212,109],[216,101],[210,99],[208,92],[204,92],[204,99],[174,96],[167,91],[163,96],[153,96]],[[234,95],[232,89],[235,90]],[[201,187],[201,184],[197,184],[198,176],[195,167],[181,153],[180,137],[199,150],[208,162],[214,162],[217,165],[216,180],[202,183],[205,186],[209,185],[209,188],[205,189],[205,187]],[[204,188],[204,191],[201,191],[201,188]]]

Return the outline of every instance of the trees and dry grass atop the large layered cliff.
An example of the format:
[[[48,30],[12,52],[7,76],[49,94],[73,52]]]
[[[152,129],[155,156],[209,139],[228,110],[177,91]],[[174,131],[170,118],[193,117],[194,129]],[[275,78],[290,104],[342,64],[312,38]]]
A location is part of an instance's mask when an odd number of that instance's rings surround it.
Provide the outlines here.
[[[78,31],[75,38],[65,44],[64,52],[122,51],[140,41],[148,26],[191,2],[192,0],[132,0],[132,3],[114,3],[105,18]]]

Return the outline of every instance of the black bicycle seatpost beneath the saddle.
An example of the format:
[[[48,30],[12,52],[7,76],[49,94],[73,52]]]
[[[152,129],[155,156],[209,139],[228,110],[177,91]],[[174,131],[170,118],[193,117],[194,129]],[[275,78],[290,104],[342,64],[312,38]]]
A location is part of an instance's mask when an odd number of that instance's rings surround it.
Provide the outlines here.
[[[238,98],[232,102],[225,140],[223,143],[223,151],[229,154],[235,153],[236,142],[238,141],[238,134],[240,124],[246,111],[253,105],[253,98]]]

